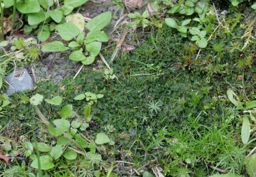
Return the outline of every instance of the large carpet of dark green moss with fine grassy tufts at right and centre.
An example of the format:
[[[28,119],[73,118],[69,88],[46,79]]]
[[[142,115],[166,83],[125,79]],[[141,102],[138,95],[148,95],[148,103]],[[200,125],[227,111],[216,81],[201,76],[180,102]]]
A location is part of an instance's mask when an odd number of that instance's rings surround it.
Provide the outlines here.
[[[159,165],[167,176],[207,176],[217,172],[213,167],[244,174],[244,157],[255,144],[242,144],[242,112],[226,97],[229,88],[242,101],[256,95],[256,65],[250,60],[255,59],[255,45],[236,50],[242,46],[242,32],[218,30],[196,59],[197,48],[172,29],[152,31],[136,50],[115,59],[118,80],[106,80],[101,69],[83,69],[76,79],[70,76],[60,85],[40,82],[34,91],[14,95],[15,106],[8,108],[1,124],[11,119],[22,125],[18,127],[23,134],[31,125],[40,130],[26,101],[33,93],[60,95],[63,105],[72,103],[81,112],[87,102],[75,101],[76,95],[102,93],[92,108],[89,132],[93,136],[102,131],[114,140],[104,155],[109,163],[128,161],[137,169]],[[109,53],[105,51],[106,58]],[[40,106],[48,119],[57,118],[59,108]],[[117,167],[115,172],[124,175]]]

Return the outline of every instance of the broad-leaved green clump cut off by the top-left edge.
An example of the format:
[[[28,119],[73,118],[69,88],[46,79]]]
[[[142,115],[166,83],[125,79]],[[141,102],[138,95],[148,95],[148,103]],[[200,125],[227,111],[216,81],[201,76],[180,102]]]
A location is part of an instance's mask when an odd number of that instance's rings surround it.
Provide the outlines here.
[[[86,3],[88,0],[70,1],[65,0],[63,3],[53,0],[20,0],[20,1],[9,1],[3,0],[4,7],[10,8],[13,6],[12,14],[12,29],[16,19],[16,9],[21,14],[25,14],[27,25],[25,25],[25,32],[31,33],[32,29],[38,35],[38,39],[41,42],[46,41],[50,37],[50,32],[47,27],[52,26],[55,23],[63,23],[63,19],[69,18],[68,15],[74,10]],[[42,24],[42,25],[41,25]],[[49,24],[49,25],[48,25]]]

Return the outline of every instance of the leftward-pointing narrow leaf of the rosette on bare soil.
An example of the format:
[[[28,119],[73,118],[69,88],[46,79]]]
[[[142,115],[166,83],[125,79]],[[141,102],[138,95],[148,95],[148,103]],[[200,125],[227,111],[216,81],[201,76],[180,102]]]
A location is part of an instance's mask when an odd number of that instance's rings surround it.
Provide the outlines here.
[[[49,42],[42,46],[42,52],[64,52],[69,48],[64,46],[64,44],[60,41]]]

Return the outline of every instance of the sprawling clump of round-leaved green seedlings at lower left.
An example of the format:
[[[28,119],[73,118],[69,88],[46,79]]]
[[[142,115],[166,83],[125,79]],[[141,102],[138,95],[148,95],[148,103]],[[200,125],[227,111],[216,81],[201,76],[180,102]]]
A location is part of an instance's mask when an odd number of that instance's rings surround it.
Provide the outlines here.
[[[91,106],[85,107],[84,116],[79,116],[72,110],[72,106],[63,106],[60,116],[53,120],[52,123],[44,117],[38,106],[42,103],[44,97],[40,94],[35,94],[31,97],[31,105],[34,106],[38,116],[43,121],[44,125],[48,127],[48,140],[46,142],[24,142],[24,155],[31,159],[30,166],[33,169],[38,169],[38,160],[40,159],[41,169],[43,171],[57,169],[58,163],[62,161],[70,161],[72,163],[70,170],[77,174],[87,174],[87,169],[92,173],[101,172],[98,168],[102,165],[102,156],[97,152],[98,145],[109,143],[109,137],[104,133],[98,133],[95,140],[83,135],[87,127],[83,125],[83,121],[89,121]],[[52,99],[45,99],[47,103],[53,106],[59,106],[62,98],[57,96]],[[72,118],[72,120],[68,120]],[[75,118],[75,119],[74,119]],[[53,143],[54,141],[54,143]],[[40,152],[40,157],[35,155],[35,151]],[[73,162],[79,161],[74,169]],[[59,167],[61,169],[61,167]],[[79,172],[77,172],[79,171]]]

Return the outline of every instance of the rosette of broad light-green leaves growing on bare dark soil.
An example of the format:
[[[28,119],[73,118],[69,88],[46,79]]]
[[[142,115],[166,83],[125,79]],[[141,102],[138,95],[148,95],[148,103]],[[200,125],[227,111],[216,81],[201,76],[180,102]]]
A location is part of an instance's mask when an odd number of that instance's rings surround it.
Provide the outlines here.
[[[73,50],[69,58],[72,61],[81,61],[83,65],[90,65],[94,63],[96,57],[100,53],[102,42],[109,41],[109,37],[101,31],[111,21],[111,12],[104,12],[91,19],[85,28],[89,33],[83,33],[73,22],[65,22],[57,26],[59,35],[69,42],[65,46],[62,42],[55,41],[44,44],[42,52],[63,52],[66,50]],[[76,37],[76,41],[71,41]]]

